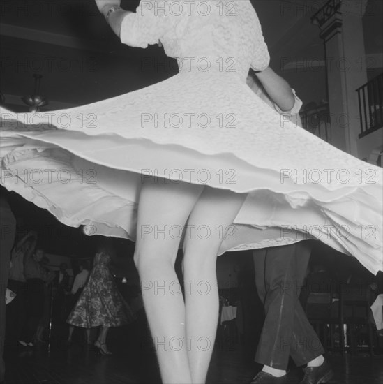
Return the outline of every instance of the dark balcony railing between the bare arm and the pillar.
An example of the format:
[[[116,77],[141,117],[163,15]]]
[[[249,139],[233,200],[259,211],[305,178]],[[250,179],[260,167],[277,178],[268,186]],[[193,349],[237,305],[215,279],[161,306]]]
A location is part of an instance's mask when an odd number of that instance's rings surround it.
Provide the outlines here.
[[[330,129],[329,103],[310,105],[312,104],[310,103],[299,113],[302,127],[305,128],[306,131],[328,142]]]

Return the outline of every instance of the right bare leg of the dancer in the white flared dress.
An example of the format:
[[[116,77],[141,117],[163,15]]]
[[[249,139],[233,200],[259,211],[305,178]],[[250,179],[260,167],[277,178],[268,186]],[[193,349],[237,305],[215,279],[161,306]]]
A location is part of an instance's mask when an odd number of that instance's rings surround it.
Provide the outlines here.
[[[186,336],[192,383],[205,383],[218,324],[216,258],[246,195],[206,187],[188,220],[183,244]]]

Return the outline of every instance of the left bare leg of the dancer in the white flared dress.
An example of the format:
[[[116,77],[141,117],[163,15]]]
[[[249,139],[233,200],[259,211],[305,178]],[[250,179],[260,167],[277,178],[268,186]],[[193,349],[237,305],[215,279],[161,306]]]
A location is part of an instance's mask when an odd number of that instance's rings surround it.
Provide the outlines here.
[[[181,233],[203,186],[147,179],[137,220],[135,264],[163,383],[191,383],[185,304],[174,262]]]

